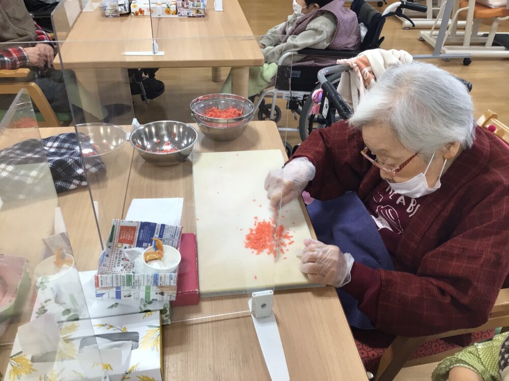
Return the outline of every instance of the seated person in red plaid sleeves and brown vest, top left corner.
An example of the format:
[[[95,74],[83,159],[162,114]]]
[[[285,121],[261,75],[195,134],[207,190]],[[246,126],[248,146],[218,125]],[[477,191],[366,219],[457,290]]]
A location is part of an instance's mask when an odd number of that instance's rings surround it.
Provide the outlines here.
[[[22,0],[0,0],[0,69],[31,68],[33,82],[41,88],[55,112],[70,112],[67,90],[71,95],[77,123],[104,120],[123,115],[131,110],[128,105],[110,104],[101,107],[86,91],[78,92],[72,71],[52,69],[54,46],[51,38],[37,25],[27,12]],[[6,102],[3,102],[6,103]],[[10,102],[7,100],[7,103]],[[5,105],[3,105],[5,107]]]

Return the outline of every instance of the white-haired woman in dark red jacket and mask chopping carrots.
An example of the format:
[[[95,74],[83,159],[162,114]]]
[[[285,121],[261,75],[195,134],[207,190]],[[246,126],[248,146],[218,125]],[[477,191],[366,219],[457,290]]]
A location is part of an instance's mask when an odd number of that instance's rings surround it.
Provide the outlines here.
[[[437,334],[484,324],[509,286],[507,152],[475,125],[464,84],[399,65],[265,187],[273,206],[316,199],[319,241],[304,242],[300,269],[337,288],[350,325]]]

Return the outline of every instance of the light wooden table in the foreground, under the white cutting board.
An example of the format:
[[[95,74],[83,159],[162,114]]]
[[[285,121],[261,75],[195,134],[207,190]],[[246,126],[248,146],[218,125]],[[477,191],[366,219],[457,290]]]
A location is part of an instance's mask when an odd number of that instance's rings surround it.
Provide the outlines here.
[[[41,133],[50,136],[64,130],[41,129]],[[183,197],[182,225],[186,232],[194,232],[191,163],[154,167],[139,155],[133,155],[130,146],[125,149],[125,157],[132,160],[130,171],[115,179],[116,182],[124,181],[124,176],[127,179],[125,199],[111,192],[109,196],[111,202],[121,199],[122,216],[133,198]],[[232,142],[212,142],[200,134],[195,145],[195,151],[200,152],[254,149],[285,152],[273,122],[251,122],[244,134]],[[87,190],[80,189],[59,199],[78,268],[96,268],[97,245],[94,242],[91,245],[87,238],[83,238],[93,234],[94,230],[93,225],[87,226],[91,224],[92,214]],[[116,204],[112,208],[120,210]],[[163,327],[164,379],[270,379],[247,312],[247,299],[247,295],[204,298],[196,306],[174,308],[174,323]],[[226,312],[239,313],[189,321],[192,317]],[[292,380],[366,379],[334,288],[276,292],[274,313]]]

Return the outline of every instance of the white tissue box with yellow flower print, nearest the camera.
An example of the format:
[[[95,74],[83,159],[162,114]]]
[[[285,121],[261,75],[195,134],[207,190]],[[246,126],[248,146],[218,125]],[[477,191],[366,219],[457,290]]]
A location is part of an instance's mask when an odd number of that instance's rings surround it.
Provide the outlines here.
[[[23,348],[33,351],[34,346],[23,345],[16,336],[7,379],[77,381],[102,373],[102,368],[110,381],[162,381],[159,312],[65,322],[59,330],[54,352],[45,352],[47,348],[44,353],[24,352]]]

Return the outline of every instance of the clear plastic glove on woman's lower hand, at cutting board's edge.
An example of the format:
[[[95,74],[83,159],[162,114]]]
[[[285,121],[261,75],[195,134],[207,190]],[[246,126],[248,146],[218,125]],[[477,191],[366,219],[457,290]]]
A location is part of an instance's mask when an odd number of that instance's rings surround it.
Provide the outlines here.
[[[307,274],[310,281],[334,287],[343,287],[350,281],[354,262],[350,253],[313,239],[305,239],[304,246],[299,270]]]

